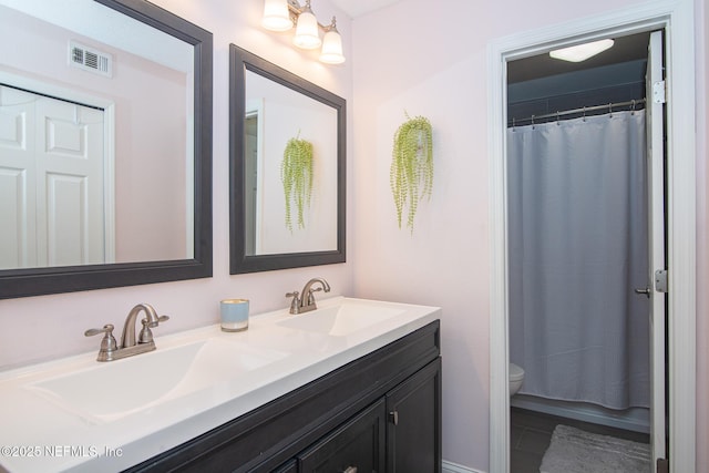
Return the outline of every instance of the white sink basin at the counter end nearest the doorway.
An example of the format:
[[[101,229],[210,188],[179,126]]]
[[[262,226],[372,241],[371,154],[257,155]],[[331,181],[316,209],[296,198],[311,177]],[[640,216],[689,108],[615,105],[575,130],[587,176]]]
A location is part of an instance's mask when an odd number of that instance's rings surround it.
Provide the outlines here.
[[[345,301],[338,306],[290,316],[278,325],[329,336],[348,336],[400,316],[404,311],[405,309],[400,307]]]

